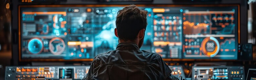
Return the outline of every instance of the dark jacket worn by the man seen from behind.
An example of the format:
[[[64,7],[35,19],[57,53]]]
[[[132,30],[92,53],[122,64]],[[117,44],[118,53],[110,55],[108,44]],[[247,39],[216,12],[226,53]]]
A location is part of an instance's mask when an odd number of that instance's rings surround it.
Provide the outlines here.
[[[116,50],[95,56],[82,80],[179,80],[171,72],[160,55],[123,42]]]

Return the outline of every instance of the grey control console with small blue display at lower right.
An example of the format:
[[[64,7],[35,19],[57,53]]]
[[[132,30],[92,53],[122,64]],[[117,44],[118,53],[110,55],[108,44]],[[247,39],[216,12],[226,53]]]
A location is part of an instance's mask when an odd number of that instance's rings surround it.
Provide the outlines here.
[[[243,66],[194,66],[193,80],[245,80]]]

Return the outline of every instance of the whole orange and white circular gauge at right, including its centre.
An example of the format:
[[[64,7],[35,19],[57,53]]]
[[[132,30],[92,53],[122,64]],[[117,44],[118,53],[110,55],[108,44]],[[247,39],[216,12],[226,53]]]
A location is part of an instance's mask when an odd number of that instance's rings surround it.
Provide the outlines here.
[[[202,52],[207,57],[214,57],[219,52],[219,42],[214,37],[206,37],[201,44]]]

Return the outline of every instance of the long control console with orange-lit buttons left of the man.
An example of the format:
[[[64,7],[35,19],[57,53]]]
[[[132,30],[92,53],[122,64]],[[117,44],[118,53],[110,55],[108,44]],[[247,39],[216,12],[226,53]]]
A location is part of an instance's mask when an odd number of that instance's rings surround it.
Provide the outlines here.
[[[6,66],[5,80],[81,80],[89,66]]]

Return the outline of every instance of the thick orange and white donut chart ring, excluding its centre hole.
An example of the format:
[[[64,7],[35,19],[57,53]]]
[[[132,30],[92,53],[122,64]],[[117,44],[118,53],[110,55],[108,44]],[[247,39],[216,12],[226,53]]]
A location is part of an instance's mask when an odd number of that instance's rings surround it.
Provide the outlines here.
[[[213,42],[214,43],[214,50],[212,51],[208,51],[207,48],[205,47],[207,45],[207,42]],[[205,56],[207,57],[214,57],[218,54],[219,52],[219,42],[216,38],[214,37],[206,37],[204,38],[204,40],[201,43],[201,48],[202,48],[202,52]]]

